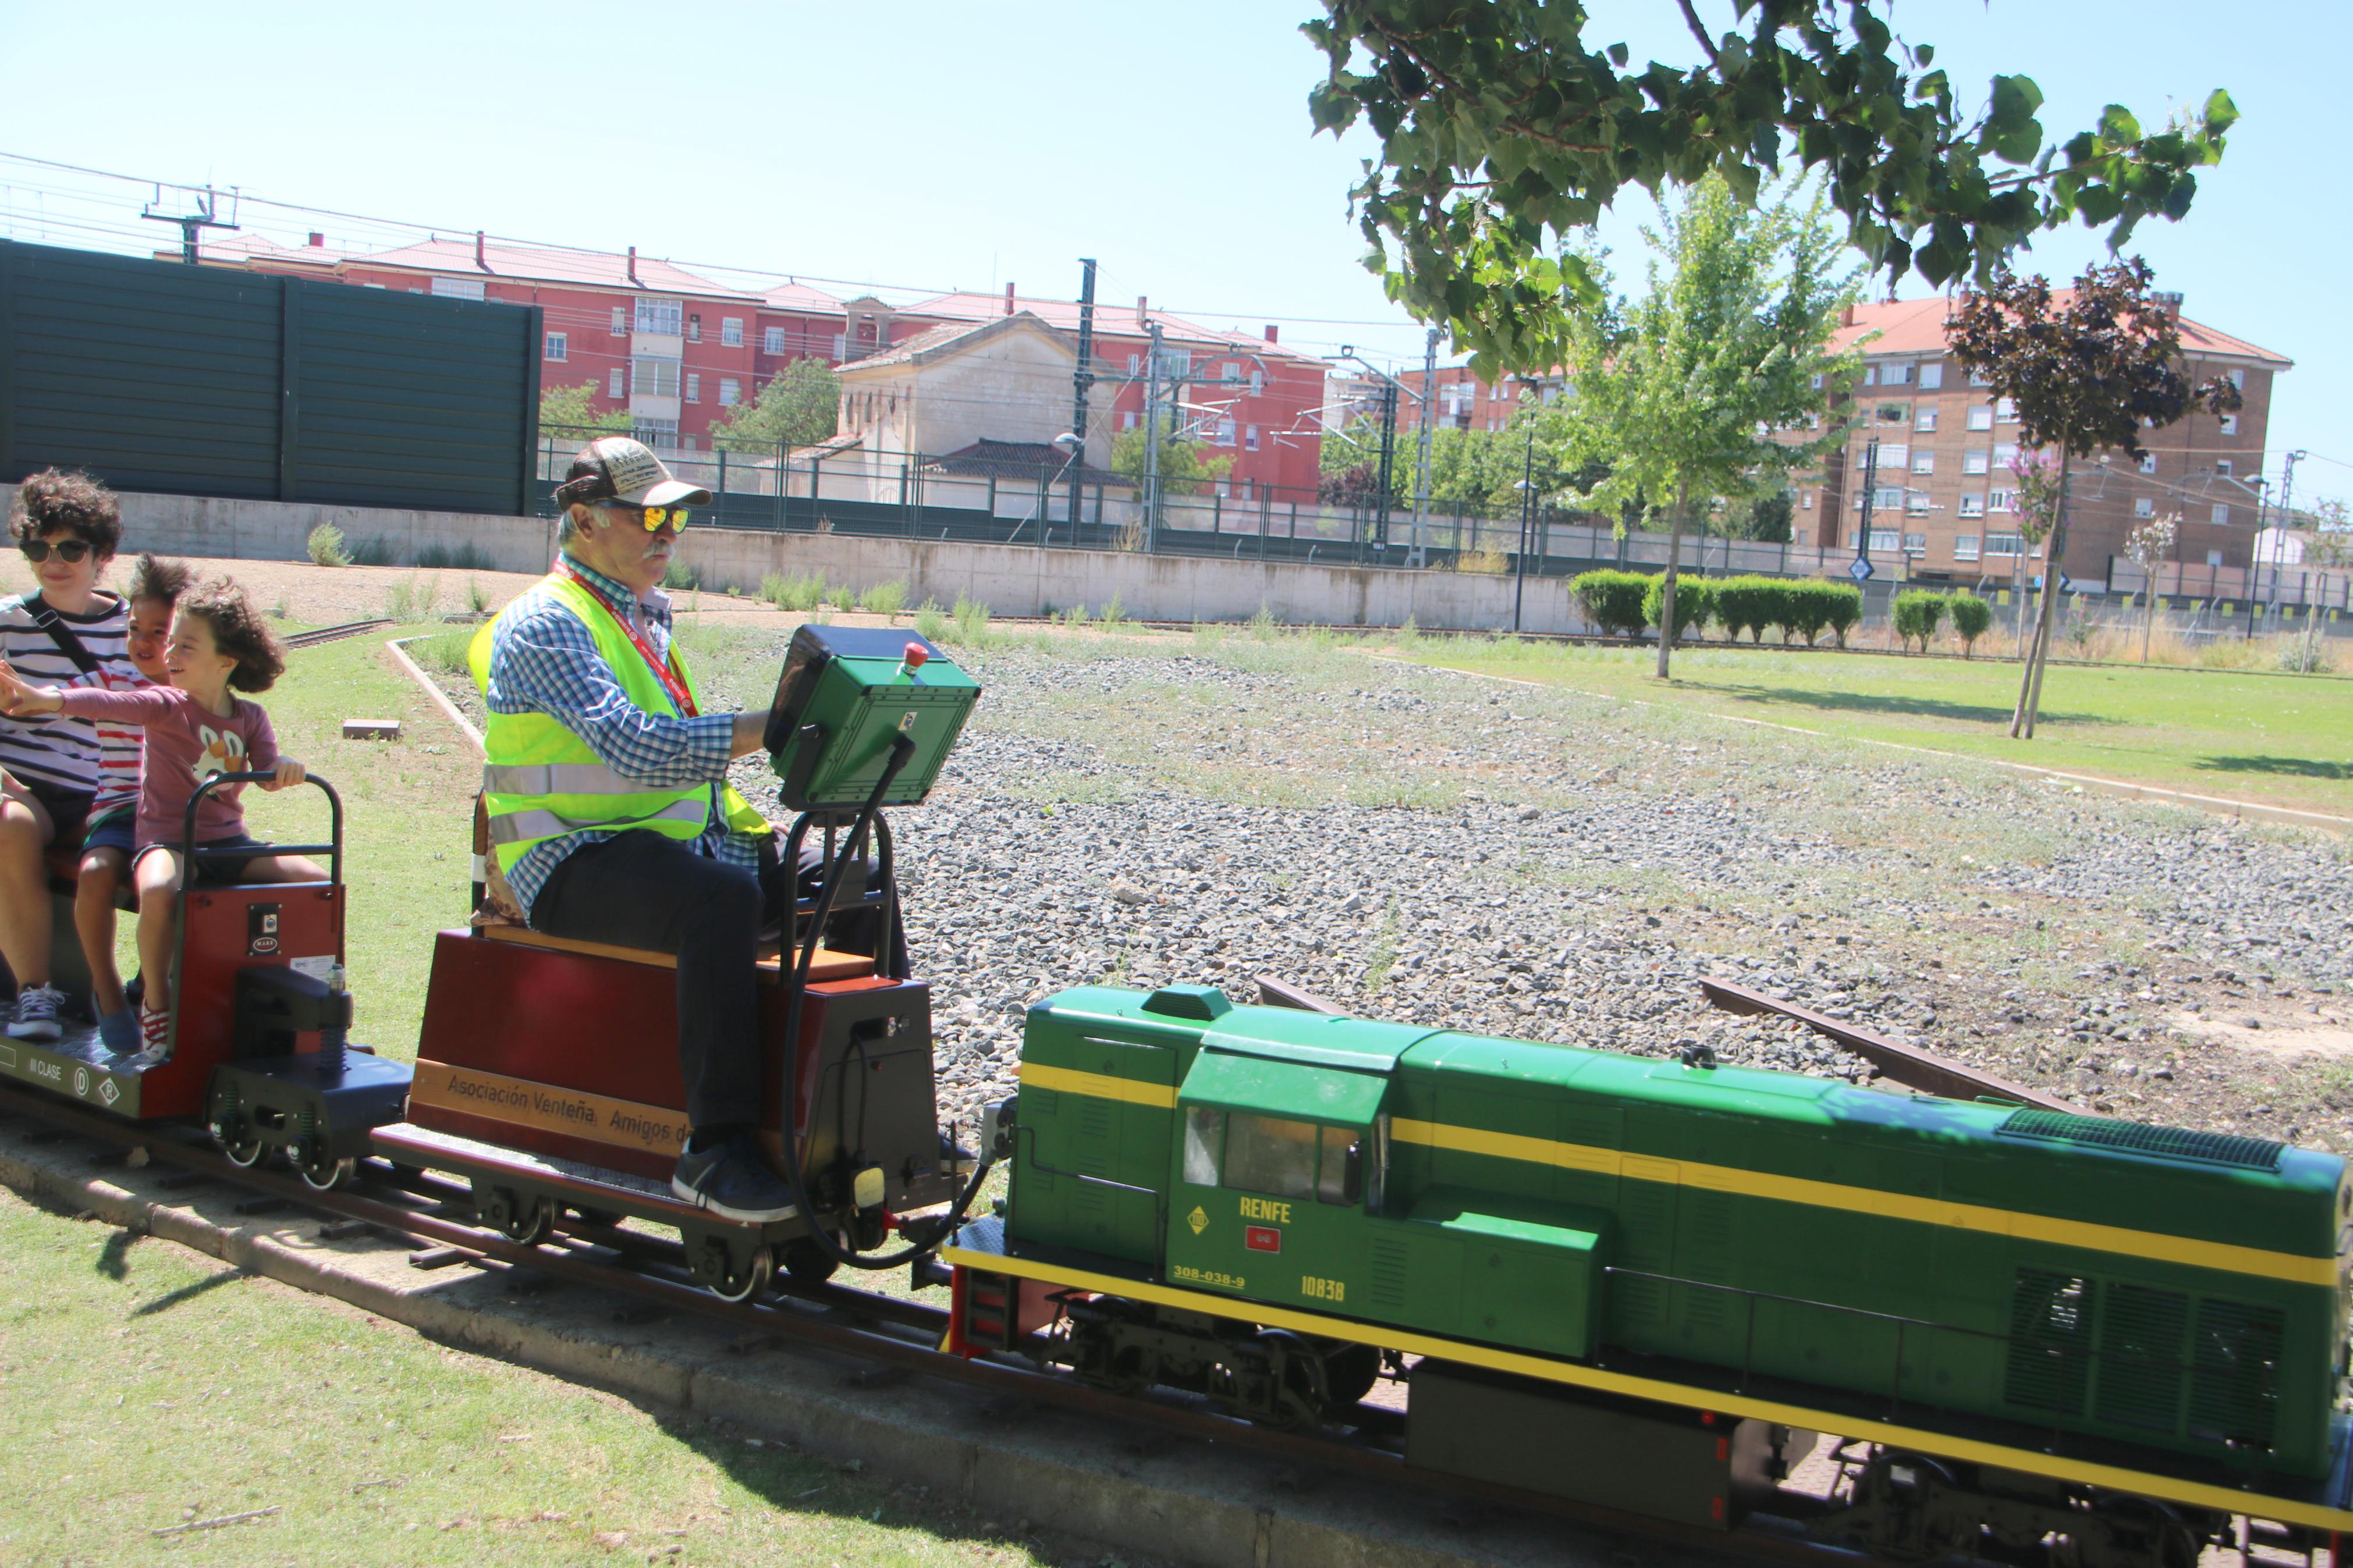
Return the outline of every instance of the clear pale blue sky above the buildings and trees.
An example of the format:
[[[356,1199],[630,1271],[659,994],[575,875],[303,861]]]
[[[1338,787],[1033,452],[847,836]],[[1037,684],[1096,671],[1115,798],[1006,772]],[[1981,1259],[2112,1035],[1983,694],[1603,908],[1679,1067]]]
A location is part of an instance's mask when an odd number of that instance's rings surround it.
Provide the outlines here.
[[[1729,0],[1697,0],[1732,26]],[[1588,40],[1689,63],[1664,0],[1591,0]],[[1346,190],[1369,134],[1315,136],[1313,0],[929,5],[579,0],[320,7],[0,0],[0,235],[134,249],[146,188],[238,186],[247,228],[384,247],[424,230],[795,275],[835,294],[1078,292],[1257,329],[1337,355],[1419,362],[1421,329],[1362,270]],[[2226,87],[2242,122],[2184,223],[2129,249],[2184,310],[2282,353],[2266,473],[2306,449],[2297,496],[2353,496],[2353,247],[2341,153],[2346,0],[1901,0],[1965,101],[1995,73],[2042,87],[2045,132],[2101,103],[2144,125]],[[1607,38],[1602,38],[1607,35]],[[16,155],[16,158],[5,158]],[[169,193],[167,193],[169,197]],[[1640,275],[1640,193],[1602,240]],[[2106,254],[2082,228],[2019,259],[2054,280]],[[1885,284],[1880,284],[1885,289]],[[1918,277],[1899,294],[1927,294]],[[1440,350],[1445,357],[1445,350]]]

